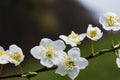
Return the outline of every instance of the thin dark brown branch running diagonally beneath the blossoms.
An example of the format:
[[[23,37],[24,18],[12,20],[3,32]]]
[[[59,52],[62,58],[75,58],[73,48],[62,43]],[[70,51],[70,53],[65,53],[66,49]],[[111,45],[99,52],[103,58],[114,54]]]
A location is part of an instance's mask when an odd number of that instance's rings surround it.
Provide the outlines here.
[[[87,56],[86,59],[87,60],[93,59],[93,58],[96,58],[96,57],[98,57],[100,55],[103,55],[105,53],[114,52],[117,49],[120,49],[120,45],[116,45],[116,46],[114,46],[113,48],[110,48],[110,49],[100,50],[100,51],[96,52],[94,56],[92,54]],[[54,66],[52,68],[43,67],[43,68],[41,68],[39,70],[35,70],[33,72],[44,72],[44,71],[49,71],[49,70],[53,70],[53,69],[56,69],[56,68],[57,68],[57,66]],[[13,77],[23,77],[24,75],[26,76],[26,74],[27,74],[27,72],[25,72],[23,74],[6,75],[6,76],[1,76],[0,79],[13,78]]]

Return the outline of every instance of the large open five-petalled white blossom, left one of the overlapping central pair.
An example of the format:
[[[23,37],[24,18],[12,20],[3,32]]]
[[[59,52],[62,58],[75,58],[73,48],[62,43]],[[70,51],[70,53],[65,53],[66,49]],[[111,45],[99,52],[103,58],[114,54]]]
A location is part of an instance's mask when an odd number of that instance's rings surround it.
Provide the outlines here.
[[[39,46],[31,49],[31,54],[34,58],[40,59],[40,63],[46,67],[52,67],[60,62],[63,50],[66,48],[62,40],[52,41],[48,38],[43,38]]]

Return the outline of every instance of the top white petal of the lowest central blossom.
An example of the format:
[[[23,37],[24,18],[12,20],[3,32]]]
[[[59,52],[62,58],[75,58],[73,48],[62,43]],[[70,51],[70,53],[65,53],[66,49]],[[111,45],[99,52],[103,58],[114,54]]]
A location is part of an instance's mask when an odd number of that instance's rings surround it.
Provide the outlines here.
[[[78,47],[71,48],[68,51],[68,55],[71,56],[72,58],[79,58],[80,57],[80,49]]]

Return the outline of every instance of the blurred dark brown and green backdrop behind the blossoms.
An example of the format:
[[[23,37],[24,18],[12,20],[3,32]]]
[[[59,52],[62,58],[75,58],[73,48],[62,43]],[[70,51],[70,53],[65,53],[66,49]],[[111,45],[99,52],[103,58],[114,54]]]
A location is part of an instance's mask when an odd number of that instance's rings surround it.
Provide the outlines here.
[[[0,0],[0,45],[5,49],[11,44],[21,47],[26,56],[21,66],[25,72],[34,71],[42,66],[39,60],[30,55],[33,46],[39,45],[44,37],[56,40],[59,35],[68,35],[72,30],[77,33],[86,32],[88,24],[101,28],[94,16],[95,13],[76,0]],[[95,51],[111,47],[110,33],[102,31],[104,36],[95,42]],[[114,33],[115,43],[120,41],[119,34],[120,32]],[[86,38],[80,45],[82,57],[90,55],[90,47],[90,40]],[[81,70],[75,80],[120,80],[120,69],[115,60],[112,53],[91,59],[89,66]],[[70,80],[54,71],[41,72],[31,80]],[[7,64],[0,76],[16,73],[19,73],[18,67]],[[1,80],[16,79],[27,80]]]

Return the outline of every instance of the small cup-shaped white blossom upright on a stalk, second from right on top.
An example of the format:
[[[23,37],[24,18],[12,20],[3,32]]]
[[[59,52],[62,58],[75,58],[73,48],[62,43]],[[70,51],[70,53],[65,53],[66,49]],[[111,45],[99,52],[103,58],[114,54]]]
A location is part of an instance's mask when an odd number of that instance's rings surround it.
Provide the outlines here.
[[[102,37],[103,33],[98,27],[92,27],[91,24],[87,28],[87,37],[93,41],[97,41]]]

